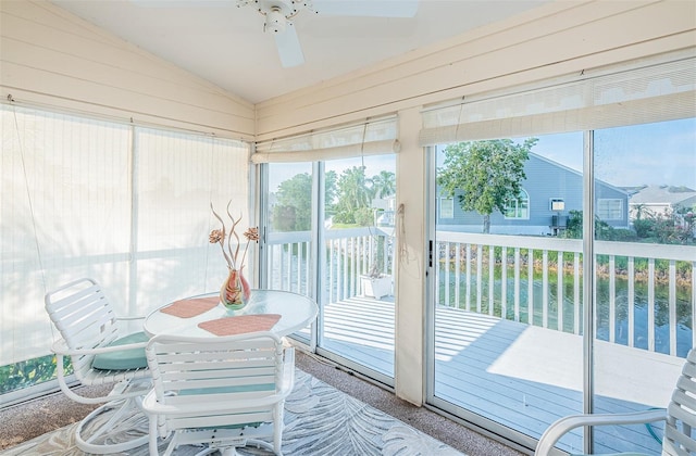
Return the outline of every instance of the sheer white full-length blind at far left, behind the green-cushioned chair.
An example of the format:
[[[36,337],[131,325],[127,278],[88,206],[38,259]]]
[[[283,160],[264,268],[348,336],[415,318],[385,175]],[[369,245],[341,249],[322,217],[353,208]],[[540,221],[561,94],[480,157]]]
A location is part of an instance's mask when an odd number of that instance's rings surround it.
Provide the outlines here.
[[[48,289],[105,270],[127,277],[132,129],[8,105],[0,114],[3,366],[50,353]]]

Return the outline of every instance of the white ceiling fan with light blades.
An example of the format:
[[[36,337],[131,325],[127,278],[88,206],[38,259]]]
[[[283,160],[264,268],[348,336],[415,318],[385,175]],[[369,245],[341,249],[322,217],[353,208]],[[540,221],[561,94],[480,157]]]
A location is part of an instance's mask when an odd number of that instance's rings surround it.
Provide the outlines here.
[[[275,38],[281,64],[287,68],[304,63],[302,47],[291,22],[302,10],[332,16],[413,17],[418,0],[237,0],[237,7],[256,8],[264,16],[263,31]]]

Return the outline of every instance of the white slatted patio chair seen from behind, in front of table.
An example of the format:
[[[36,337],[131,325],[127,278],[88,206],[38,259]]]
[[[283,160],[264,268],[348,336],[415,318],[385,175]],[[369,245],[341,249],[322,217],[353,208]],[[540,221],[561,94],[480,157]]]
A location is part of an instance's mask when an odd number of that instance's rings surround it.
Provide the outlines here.
[[[150,455],[158,436],[179,445],[204,444],[199,455],[253,445],[281,454],[283,406],[295,380],[295,352],[278,337],[156,335],[146,349],[153,389],[142,401],[150,415]],[[272,442],[272,443],[270,443]]]

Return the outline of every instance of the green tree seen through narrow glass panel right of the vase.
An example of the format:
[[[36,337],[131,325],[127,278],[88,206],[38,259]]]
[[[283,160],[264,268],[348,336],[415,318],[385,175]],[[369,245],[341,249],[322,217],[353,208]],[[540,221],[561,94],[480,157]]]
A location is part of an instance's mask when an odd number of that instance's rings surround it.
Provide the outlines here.
[[[278,186],[273,226],[278,231],[307,231],[312,220],[312,177],[298,174]]]

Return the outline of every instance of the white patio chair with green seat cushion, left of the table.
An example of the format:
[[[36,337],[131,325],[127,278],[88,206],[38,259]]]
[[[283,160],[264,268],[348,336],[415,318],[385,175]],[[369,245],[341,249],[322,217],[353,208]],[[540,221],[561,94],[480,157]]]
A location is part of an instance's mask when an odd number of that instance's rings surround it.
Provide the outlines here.
[[[142,332],[123,337],[119,321],[133,318],[117,318],[101,287],[92,279],[79,279],[48,292],[45,302],[62,337],[51,347],[57,356],[61,390],[75,402],[103,404],[77,426],[77,447],[86,453],[111,454],[146,444],[146,416],[136,400],[151,388],[145,357],[148,338]],[[113,383],[113,389],[101,396],[77,394],[65,379],[66,356],[79,383]],[[133,429],[138,422],[144,431],[140,435],[135,432],[134,438]]]

